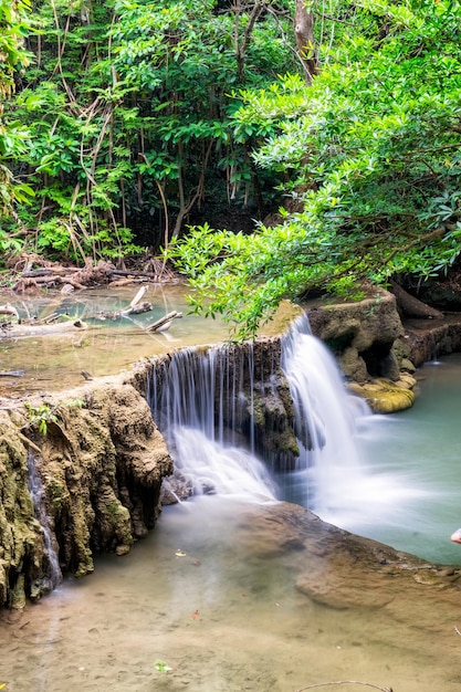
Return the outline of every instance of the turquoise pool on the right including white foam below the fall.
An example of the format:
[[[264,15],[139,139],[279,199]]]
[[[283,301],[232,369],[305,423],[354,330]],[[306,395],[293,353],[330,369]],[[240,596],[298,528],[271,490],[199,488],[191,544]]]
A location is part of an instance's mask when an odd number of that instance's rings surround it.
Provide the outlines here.
[[[425,365],[418,379],[411,409],[359,421],[359,464],[329,506],[305,491],[301,504],[353,533],[459,565],[450,535],[461,526],[461,355]]]

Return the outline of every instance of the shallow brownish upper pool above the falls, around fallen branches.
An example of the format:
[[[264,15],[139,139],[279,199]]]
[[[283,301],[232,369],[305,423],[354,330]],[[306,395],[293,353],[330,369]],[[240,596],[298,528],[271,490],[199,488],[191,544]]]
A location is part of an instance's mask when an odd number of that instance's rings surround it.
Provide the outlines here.
[[[0,294],[0,304],[10,302],[21,316],[44,317],[59,312],[84,319],[88,328],[82,332],[46,337],[11,338],[0,335],[0,371],[24,370],[24,376],[0,377],[0,396],[15,396],[31,391],[72,388],[84,382],[82,370],[94,377],[115,375],[139,360],[169,353],[184,346],[216,344],[229,338],[230,325],[219,316],[206,319],[188,315],[187,289],[181,284],[149,284],[143,302],[154,310],[130,315],[116,322],[95,321],[101,312],[126,308],[138,287],[94,289],[71,296],[20,297]],[[169,312],[184,314],[175,319],[168,332],[155,334],[146,327]],[[262,328],[262,334],[283,332],[293,318],[295,308],[283,304],[274,321]]]

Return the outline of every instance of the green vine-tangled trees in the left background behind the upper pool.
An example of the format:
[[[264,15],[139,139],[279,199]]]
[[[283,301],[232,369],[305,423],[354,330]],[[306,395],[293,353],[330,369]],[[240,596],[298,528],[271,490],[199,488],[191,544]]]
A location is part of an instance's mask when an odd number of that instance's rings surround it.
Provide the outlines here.
[[[124,256],[167,244],[218,188],[248,201],[254,128],[230,118],[240,87],[293,67],[283,2],[39,1],[35,62],[8,108],[31,133],[28,248]]]

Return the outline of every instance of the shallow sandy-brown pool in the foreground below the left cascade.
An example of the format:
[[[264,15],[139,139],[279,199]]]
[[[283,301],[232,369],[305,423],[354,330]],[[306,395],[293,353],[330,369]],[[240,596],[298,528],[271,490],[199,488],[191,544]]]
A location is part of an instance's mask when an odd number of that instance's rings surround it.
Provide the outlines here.
[[[398,617],[392,604],[317,605],[295,587],[308,555],[271,552],[244,513],[209,496],[168,507],[128,557],[102,557],[91,577],[12,614],[0,682],[9,692],[294,692],[340,680],[459,690],[457,615],[425,587],[417,599],[399,594]]]

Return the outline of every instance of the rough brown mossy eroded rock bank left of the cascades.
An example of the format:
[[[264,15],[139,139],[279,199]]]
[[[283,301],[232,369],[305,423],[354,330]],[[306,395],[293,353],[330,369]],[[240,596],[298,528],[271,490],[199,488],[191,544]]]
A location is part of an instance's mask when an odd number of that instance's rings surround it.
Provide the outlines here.
[[[50,590],[54,548],[64,574],[93,570],[93,554],[124,554],[160,511],[161,479],[172,470],[146,400],[109,378],[31,398],[0,411],[0,604],[21,607]],[[52,536],[38,518],[28,458],[43,484]]]

